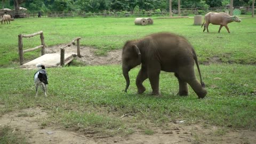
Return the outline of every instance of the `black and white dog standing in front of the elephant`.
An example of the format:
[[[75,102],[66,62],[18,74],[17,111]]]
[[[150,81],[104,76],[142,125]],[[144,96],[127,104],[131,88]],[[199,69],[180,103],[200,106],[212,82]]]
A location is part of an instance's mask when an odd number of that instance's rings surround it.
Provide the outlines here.
[[[36,67],[41,67],[41,69],[37,70],[35,75],[34,75],[34,82],[35,82],[35,86],[36,86],[36,97],[38,94],[38,86],[41,86],[43,91],[44,91],[44,95],[45,97],[47,97],[47,73],[45,70],[45,66],[42,64],[36,64]]]

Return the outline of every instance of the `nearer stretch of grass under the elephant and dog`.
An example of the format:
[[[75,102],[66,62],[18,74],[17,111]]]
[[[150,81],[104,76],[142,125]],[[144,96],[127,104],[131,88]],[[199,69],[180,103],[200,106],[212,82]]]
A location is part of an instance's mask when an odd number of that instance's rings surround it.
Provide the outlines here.
[[[34,70],[0,69],[0,101],[4,104],[0,115],[40,105],[50,111],[50,120],[44,123],[79,131],[125,132],[138,123],[143,129],[143,125],[162,126],[179,119],[256,130],[255,66],[210,65],[201,69],[208,91],[205,99],[198,99],[190,88],[189,97],[179,97],[175,94],[177,79],[164,72],[160,81],[162,97],[149,95],[148,80],[145,94],[138,95],[138,68],[130,72],[131,86],[124,93],[120,66],[49,68],[49,97],[41,91],[41,96],[35,98]],[[123,114],[134,118],[126,122],[120,118]]]

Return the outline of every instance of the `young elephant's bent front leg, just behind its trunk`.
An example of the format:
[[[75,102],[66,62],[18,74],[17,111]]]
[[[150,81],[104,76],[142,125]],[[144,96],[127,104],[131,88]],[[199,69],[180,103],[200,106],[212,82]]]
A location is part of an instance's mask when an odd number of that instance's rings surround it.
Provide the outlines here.
[[[145,79],[148,78],[148,75],[147,75],[147,71],[145,69],[140,69],[139,71],[139,74],[136,78],[136,85],[137,85],[137,88],[138,88],[138,93],[141,94],[143,92],[146,91],[146,88],[145,86],[143,86],[143,82],[145,81]]]

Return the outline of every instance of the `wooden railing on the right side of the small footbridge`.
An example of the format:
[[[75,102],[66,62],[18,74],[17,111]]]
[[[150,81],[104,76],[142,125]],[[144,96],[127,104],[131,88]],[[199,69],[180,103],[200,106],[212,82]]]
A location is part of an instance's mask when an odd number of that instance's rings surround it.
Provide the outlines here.
[[[65,48],[71,45],[75,45],[75,41],[77,42],[77,56],[79,58],[82,57],[81,53],[80,53],[80,39],[81,37],[77,37],[75,39],[73,39],[73,41],[71,43],[66,44],[65,46],[60,48],[60,65],[61,66],[65,66]],[[71,55],[70,57],[66,58],[67,61],[71,61],[73,58],[73,55]]]

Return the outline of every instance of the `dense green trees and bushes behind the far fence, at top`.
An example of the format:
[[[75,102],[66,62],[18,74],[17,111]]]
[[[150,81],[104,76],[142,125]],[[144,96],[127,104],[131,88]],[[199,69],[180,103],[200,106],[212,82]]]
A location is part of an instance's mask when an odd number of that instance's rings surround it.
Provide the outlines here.
[[[2,0],[0,7],[13,9],[14,0]],[[21,0],[20,0],[21,1]],[[188,7],[221,7],[229,4],[230,0],[181,0],[181,8]],[[249,6],[252,0],[234,0],[234,6]],[[99,12],[103,10],[130,11],[135,6],[141,10],[169,10],[169,0],[26,0],[21,6],[29,12],[50,11],[85,11]],[[178,0],[172,1],[172,9],[178,9]]]

